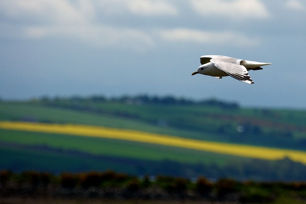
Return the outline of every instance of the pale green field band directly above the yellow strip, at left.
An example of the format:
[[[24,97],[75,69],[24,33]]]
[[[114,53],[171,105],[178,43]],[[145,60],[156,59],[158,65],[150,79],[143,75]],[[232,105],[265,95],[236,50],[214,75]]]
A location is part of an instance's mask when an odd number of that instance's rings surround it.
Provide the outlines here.
[[[176,135],[187,138],[215,140],[214,136],[195,131],[176,130],[174,128],[159,127],[154,124],[145,123],[139,119],[127,119],[112,115],[101,115],[78,112],[61,108],[49,108],[40,104],[27,103],[1,103],[0,102],[0,120],[35,120],[37,122],[49,123],[74,123],[95,125],[131,130],[142,130],[161,134]]]

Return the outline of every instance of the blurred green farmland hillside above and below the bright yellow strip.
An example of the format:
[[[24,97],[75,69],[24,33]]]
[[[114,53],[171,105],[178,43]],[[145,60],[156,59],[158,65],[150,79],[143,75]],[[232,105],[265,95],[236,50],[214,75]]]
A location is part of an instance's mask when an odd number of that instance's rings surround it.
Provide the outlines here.
[[[205,141],[305,150],[306,111],[173,97],[47,97],[0,102],[1,121],[85,124]],[[306,180],[304,164],[139,142],[0,129],[1,169],[104,171],[217,179]],[[267,168],[268,167],[268,168]]]

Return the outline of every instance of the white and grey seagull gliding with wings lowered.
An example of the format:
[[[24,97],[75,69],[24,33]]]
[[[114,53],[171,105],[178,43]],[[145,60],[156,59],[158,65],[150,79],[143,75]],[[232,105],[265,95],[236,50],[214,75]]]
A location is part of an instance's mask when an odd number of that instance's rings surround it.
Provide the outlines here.
[[[244,59],[236,59],[222,55],[203,55],[200,57],[201,66],[192,73],[204,74],[221,79],[225,76],[231,76],[239,81],[248,84],[254,84],[247,71],[262,70],[260,66],[270,65],[271,63],[254,62]]]

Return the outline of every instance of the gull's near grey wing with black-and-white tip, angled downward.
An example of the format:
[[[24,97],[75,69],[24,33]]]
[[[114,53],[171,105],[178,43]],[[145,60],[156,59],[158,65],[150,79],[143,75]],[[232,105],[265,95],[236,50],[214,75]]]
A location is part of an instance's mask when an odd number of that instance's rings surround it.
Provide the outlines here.
[[[210,62],[213,62],[219,70],[224,71],[229,76],[248,84],[254,84],[247,69],[240,65],[241,59],[232,57],[216,57],[210,59]]]

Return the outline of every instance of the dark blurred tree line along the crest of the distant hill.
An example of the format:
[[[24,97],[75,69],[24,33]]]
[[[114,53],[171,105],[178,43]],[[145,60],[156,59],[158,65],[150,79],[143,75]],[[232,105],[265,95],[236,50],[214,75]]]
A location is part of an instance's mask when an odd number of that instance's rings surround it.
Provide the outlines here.
[[[203,99],[203,100],[192,100],[183,97],[175,96],[149,96],[147,94],[141,94],[136,96],[118,96],[118,97],[105,97],[103,95],[94,95],[89,97],[54,97],[50,98],[48,96],[43,96],[39,99],[42,102],[60,102],[60,101],[83,101],[83,102],[118,102],[126,104],[162,104],[162,105],[207,105],[207,106],[217,106],[220,108],[237,109],[240,108],[239,104],[236,102],[227,102],[223,100],[217,100],[214,98]]]

